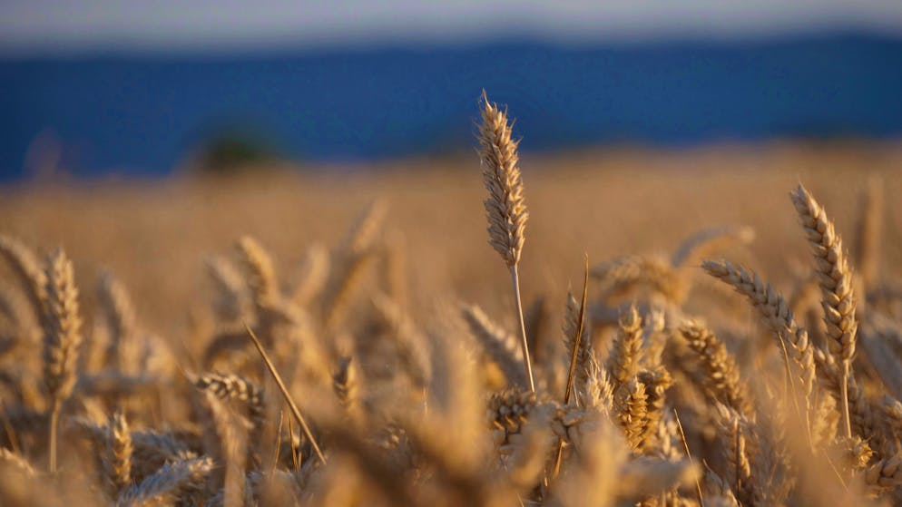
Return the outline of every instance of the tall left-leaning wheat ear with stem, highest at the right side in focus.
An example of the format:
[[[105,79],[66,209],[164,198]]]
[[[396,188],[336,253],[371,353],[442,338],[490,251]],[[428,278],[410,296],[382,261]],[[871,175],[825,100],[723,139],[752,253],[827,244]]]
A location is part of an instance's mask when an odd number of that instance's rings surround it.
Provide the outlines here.
[[[799,213],[802,228],[808,236],[814,253],[815,269],[820,282],[820,293],[824,307],[824,322],[830,353],[836,356],[842,377],[842,417],[846,428],[846,438],[852,437],[852,425],[848,416],[848,372],[855,354],[855,340],[858,320],[855,317],[855,294],[852,291],[852,271],[848,268],[842,239],[827,218],[824,209],[814,200],[805,187],[799,185],[790,194],[792,204]]]

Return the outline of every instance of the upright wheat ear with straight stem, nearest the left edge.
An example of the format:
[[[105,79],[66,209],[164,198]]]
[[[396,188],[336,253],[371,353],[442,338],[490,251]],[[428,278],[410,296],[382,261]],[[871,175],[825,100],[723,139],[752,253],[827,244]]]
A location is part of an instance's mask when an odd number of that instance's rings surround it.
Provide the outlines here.
[[[45,276],[44,383],[52,406],[50,472],[56,473],[57,426],[63,402],[72,395],[75,385],[82,319],[78,314],[78,288],[75,288],[72,261],[63,249],[58,249],[48,259]]]

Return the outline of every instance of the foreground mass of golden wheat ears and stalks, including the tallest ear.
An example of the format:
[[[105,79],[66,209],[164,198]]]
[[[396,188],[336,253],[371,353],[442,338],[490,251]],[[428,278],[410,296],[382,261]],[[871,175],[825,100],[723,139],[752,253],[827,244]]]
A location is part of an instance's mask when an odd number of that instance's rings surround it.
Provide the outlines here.
[[[0,238],[16,282],[0,289],[0,504],[902,502],[902,292],[878,270],[877,186],[856,272],[799,185],[814,257],[789,297],[704,259],[750,229],[709,229],[670,259],[587,260],[560,332],[540,333],[520,298],[518,141],[485,96],[477,136],[512,319],[445,304],[417,322],[391,287],[351,304],[378,205],[289,280],[250,237],[237,262],[211,258],[211,311],[178,343],[109,273],[87,328],[64,250],[42,262]],[[687,309],[701,283],[739,294],[703,306],[711,324]]]

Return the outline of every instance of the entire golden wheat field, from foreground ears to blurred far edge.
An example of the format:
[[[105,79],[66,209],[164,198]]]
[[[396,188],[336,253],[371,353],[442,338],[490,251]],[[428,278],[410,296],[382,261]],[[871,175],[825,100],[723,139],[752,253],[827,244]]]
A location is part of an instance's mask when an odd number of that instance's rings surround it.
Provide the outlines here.
[[[3,189],[0,504],[902,502],[902,147],[510,122]]]

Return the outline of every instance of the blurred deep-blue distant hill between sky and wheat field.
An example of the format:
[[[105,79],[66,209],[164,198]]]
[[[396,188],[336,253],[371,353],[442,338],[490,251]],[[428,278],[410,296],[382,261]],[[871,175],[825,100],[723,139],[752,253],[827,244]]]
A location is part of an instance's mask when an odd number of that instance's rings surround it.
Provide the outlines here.
[[[85,176],[165,174],[205,139],[235,129],[307,161],[468,149],[483,88],[509,104],[525,150],[890,137],[902,134],[902,40],[502,41],[2,60],[0,179],[22,176],[35,139],[55,139],[64,165]]]

